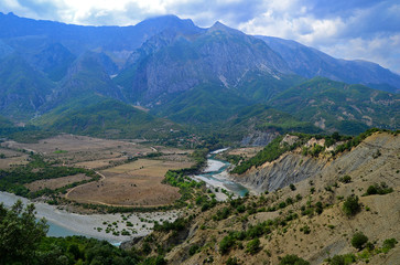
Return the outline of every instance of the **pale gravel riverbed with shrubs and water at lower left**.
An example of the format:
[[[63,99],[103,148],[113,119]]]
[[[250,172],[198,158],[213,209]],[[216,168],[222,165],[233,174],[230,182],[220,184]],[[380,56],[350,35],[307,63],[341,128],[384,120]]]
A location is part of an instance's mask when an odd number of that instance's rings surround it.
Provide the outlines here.
[[[17,200],[21,200],[24,204],[32,203],[25,198],[0,192],[0,202],[8,208],[13,205]],[[154,221],[160,223],[163,221],[173,222],[181,214],[180,211],[173,210],[167,212],[85,215],[60,210],[54,205],[43,202],[33,203],[36,210],[36,218],[45,218],[47,220],[47,224],[51,226],[50,236],[76,234],[106,240],[117,244],[150,234]],[[122,235],[122,231],[130,235]]]

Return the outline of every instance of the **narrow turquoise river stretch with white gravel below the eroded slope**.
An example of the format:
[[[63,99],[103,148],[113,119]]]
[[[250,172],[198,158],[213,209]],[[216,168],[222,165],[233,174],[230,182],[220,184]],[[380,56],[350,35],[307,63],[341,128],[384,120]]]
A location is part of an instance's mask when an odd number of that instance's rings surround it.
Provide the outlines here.
[[[193,178],[206,182],[209,187],[225,189],[235,195],[244,197],[249,191],[244,186],[229,179],[227,168],[230,163],[215,158],[217,153],[225,150],[227,149],[218,149],[210,152],[207,159],[207,167],[203,170],[203,173],[196,174]]]

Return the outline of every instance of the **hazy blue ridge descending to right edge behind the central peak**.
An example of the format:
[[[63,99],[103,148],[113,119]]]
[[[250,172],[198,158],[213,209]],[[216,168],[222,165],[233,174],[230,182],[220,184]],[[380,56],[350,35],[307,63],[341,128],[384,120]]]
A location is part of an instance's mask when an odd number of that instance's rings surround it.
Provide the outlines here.
[[[258,38],[281,55],[291,71],[301,76],[307,78],[324,76],[349,84],[364,84],[386,92],[400,92],[400,76],[378,64],[360,60],[334,59],[295,41],[272,36]]]

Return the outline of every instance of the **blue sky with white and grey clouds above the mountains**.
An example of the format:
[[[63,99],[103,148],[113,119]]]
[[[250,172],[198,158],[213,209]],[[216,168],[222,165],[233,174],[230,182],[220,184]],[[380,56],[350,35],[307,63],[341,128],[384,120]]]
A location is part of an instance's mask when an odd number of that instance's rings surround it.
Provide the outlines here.
[[[220,21],[400,74],[400,0],[0,0],[0,12],[84,25],[131,25],[163,14],[202,28]]]

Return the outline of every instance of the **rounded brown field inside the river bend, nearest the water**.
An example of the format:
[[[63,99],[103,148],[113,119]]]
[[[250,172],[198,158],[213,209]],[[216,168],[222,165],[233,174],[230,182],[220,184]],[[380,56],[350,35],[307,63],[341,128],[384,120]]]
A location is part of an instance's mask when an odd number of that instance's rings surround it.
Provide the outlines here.
[[[165,205],[180,198],[177,188],[161,183],[165,172],[192,165],[162,159],[139,159],[102,170],[105,179],[77,187],[68,192],[67,198],[108,205]]]

